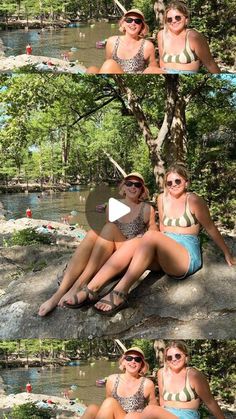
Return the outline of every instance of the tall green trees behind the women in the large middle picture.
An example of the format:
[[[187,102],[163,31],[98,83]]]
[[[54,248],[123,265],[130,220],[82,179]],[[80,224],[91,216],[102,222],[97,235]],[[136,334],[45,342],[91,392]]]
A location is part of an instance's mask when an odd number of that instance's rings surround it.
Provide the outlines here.
[[[145,83],[144,83],[145,80]],[[234,76],[0,76],[0,182],[116,182],[151,189],[184,162],[214,218],[235,221]]]

